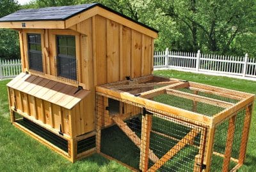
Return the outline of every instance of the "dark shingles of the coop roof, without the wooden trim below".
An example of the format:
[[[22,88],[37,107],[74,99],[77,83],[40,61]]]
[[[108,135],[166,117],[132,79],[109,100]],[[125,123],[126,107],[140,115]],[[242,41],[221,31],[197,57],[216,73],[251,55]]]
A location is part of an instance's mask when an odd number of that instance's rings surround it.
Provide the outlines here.
[[[132,22],[136,22],[137,24],[142,25],[143,27],[147,27],[148,29],[158,32],[156,29],[152,27],[148,27],[145,24],[142,24],[136,20],[132,20],[121,13],[118,13],[111,8],[108,8],[100,3],[92,3],[92,4],[81,4],[81,5],[73,5],[73,6],[56,6],[56,7],[46,7],[46,8],[38,8],[38,9],[24,9],[16,11],[10,15],[6,15],[5,17],[0,18],[0,22],[28,22],[28,21],[63,21],[67,20],[74,15],[82,13],[83,11],[89,10],[95,6],[100,6],[108,11],[116,13]]]

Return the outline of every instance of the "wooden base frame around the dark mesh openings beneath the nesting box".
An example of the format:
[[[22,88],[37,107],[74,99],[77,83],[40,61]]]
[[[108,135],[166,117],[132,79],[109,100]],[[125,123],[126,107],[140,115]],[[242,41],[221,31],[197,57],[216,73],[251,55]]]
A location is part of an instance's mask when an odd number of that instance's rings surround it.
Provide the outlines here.
[[[21,118],[16,119],[15,118],[15,113],[19,114],[21,116]],[[53,150],[54,152],[57,152],[58,154],[62,155],[63,157],[65,157],[65,159],[68,159],[68,161],[71,161],[72,163],[78,161],[79,159],[83,159],[84,157],[88,157],[88,156],[95,153],[95,147],[93,147],[93,148],[90,148],[89,150],[86,150],[84,152],[81,152],[81,153],[77,154],[77,143],[78,143],[78,141],[86,140],[87,138],[95,136],[94,131],[90,132],[90,133],[83,134],[81,136],[77,136],[76,138],[71,138],[70,136],[67,136],[66,134],[63,134],[63,135],[59,134],[58,131],[54,131],[54,129],[51,129],[50,127],[47,128],[45,125],[41,125],[40,122],[37,122],[35,119],[29,117],[29,115],[27,115],[26,113],[23,113],[22,111],[19,111],[19,110],[17,111],[14,108],[11,108],[10,115],[11,115],[12,124],[15,127],[17,127],[17,129],[20,129],[20,131],[23,131],[24,133],[28,134],[29,136],[31,136],[35,140],[39,141],[40,143],[42,143],[46,147]],[[52,134],[55,134],[56,136],[59,136],[60,138],[63,138],[64,140],[67,140],[67,142],[68,142],[68,152],[65,152],[65,150],[62,150],[61,148],[52,144],[50,141],[45,140],[44,138],[42,138],[38,134],[33,133],[33,131],[29,130],[25,126],[19,124],[19,122],[17,122],[17,120],[21,120],[22,118],[26,118],[27,120],[29,120],[33,124],[36,124],[39,127],[44,128],[45,130],[51,132]]]

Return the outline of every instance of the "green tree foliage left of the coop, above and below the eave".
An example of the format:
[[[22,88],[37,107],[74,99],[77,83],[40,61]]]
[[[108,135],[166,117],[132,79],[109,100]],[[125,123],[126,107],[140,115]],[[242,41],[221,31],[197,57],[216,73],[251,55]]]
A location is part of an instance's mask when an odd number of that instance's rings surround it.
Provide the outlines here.
[[[19,10],[20,6],[15,0],[0,1],[0,17],[4,17],[14,11]],[[17,59],[20,57],[19,34],[11,29],[0,29],[0,58]]]

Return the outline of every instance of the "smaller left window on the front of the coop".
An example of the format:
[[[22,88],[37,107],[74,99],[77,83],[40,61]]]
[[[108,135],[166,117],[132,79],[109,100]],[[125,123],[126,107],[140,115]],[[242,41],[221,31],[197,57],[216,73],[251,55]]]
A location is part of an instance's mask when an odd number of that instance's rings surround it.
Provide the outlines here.
[[[40,34],[28,34],[29,70],[43,72],[43,58]]]

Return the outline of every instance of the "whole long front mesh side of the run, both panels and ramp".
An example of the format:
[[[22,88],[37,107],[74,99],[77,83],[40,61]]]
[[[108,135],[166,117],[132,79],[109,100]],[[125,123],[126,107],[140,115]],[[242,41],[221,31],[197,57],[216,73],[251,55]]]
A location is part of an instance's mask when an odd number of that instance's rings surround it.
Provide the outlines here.
[[[97,93],[97,152],[134,171],[200,171],[207,129]]]

